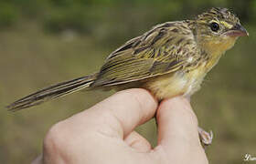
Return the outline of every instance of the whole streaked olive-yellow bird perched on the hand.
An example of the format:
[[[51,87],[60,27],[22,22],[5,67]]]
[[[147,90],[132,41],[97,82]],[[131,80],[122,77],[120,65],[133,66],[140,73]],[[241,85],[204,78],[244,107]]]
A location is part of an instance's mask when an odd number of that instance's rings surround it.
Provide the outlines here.
[[[166,22],[113,51],[96,74],[44,88],[7,108],[29,108],[81,89],[96,88],[143,87],[159,100],[190,97],[239,36],[248,33],[226,8],[212,8],[194,20]]]

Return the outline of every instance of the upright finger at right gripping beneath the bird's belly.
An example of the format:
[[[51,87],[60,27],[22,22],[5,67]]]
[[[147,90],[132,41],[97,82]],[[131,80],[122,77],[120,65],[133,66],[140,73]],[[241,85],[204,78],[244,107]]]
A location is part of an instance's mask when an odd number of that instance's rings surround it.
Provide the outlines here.
[[[158,144],[172,151],[201,149],[197,131],[197,117],[188,100],[174,97],[164,100],[157,111]]]

